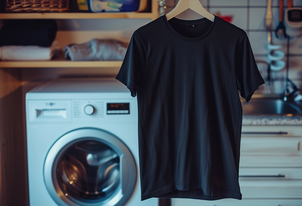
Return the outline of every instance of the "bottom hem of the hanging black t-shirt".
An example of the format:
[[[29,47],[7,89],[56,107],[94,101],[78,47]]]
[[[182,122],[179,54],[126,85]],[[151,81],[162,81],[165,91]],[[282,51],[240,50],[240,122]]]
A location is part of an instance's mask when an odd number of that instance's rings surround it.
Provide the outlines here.
[[[205,192],[206,194],[211,195],[197,195],[197,194],[167,194],[169,192],[172,192],[174,190],[174,187],[168,187],[165,189],[158,190],[156,192],[149,193],[148,195],[142,195],[141,201],[149,199],[149,198],[191,198],[191,199],[199,199],[199,200],[219,200],[224,198],[233,198],[233,199],[242,199],[242,194],[234,193],[230,191],[225,190],[210,190]]]

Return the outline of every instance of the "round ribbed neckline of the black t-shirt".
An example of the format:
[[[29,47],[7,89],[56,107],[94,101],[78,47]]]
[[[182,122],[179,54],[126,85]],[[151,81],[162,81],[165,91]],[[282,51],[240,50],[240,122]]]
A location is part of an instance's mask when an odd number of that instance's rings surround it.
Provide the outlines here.
[[[177,31],[175,31],[173,29],[173,27],[170,25],[170,23],[168,22],[167,17],[166,17],[165,14],[162,15],[161,17],[164,20],[164,22],[167,25],[167,27],[169,28],[169,30],[173,34],[175,34],[175,36],[177,36],[178,38],[183,39],[185,41],[194,42],[194,41],[199,41],[201,39],[204,39],[207,36],[209,36],[210,33],[212,33],[212,31],[214,30],[214,27],[216,26],[216,24],[218,22],[218,19],[219,19],[219,17],[217,17],[216,15],[214,15],[214,16],[215,16],[214,22],[212,23],[212,26],[210,27],[210,29],[204,35],[198,36],[198,37],[192,37],[192,38],[191,37],[182,36],[180,33],[178,33]],[[173,17],[170,20],[175,21],[175,22],[179,22],[179,23],[206,23],[207,21],[210,21],[209,19],[207,19],[205,17],[201,18],[201,19],[194,19],[194,20],[184,20],[184,19],[178,19],[178,18]]]

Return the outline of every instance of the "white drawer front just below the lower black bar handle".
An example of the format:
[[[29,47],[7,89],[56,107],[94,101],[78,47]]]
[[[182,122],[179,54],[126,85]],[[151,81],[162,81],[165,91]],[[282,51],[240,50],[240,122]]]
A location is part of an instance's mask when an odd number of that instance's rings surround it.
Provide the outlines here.
[[[301,198],[302,180],[242,180],[242,198]]]

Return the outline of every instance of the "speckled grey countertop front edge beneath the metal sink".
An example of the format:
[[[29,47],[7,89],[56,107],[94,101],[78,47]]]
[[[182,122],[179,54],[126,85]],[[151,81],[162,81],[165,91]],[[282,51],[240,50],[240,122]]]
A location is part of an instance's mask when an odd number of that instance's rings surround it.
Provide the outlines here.
[[[265,125],[302,125],[302,116],[252,116],[243,115],[242,126],[265,126]]]

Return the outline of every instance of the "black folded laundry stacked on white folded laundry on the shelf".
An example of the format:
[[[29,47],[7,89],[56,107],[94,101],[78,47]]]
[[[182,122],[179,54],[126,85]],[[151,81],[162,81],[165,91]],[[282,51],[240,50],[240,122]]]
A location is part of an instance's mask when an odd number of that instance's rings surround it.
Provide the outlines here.
[[[50,60],[59,53],[55,20],[7,20],[0,29],[1,60]]]

